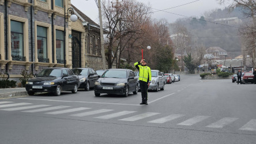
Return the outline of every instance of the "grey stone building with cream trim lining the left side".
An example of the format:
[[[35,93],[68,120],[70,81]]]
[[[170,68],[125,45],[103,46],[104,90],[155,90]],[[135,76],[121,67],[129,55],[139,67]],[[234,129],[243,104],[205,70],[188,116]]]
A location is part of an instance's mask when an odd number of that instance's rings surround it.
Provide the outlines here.
[[[69,7],[78,16],[76,22],[70,21]],[[102,69],[99,25],[70,0],[0,0],[0,48],[0,73],[16,81],[22,70]]]

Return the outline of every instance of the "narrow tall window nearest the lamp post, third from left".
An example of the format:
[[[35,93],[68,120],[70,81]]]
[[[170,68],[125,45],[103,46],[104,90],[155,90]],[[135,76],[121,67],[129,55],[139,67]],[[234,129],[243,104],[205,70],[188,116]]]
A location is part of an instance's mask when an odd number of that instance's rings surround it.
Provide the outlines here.
[[[57,63],[64,63],[64,32],[56,30],[56,58]]]

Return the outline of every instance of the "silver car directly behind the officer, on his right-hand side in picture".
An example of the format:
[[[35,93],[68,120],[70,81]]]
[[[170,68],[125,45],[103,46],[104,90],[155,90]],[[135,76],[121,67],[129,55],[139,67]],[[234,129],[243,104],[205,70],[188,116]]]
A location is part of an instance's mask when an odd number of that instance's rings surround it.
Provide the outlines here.
[[[165,79],[159,70],[151,70],[151,83],[149,90],[155,90],[158,92],[159,88],[164,90]]]

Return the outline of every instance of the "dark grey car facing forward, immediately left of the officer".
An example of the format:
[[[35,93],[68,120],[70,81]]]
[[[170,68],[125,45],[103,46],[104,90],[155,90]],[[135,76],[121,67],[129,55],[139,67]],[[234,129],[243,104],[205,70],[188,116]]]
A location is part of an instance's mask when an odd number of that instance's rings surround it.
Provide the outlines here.
[[[123,94],[125,97],[130,92],[137,94],[138,78],[129,69],[109,69],[95,82],[94,92],[96,97],[101,93]]]

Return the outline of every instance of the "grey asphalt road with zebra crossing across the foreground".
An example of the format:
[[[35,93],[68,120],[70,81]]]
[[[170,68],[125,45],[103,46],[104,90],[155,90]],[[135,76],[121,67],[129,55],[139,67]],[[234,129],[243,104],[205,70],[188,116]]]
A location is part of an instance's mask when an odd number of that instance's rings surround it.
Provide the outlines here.
[[[181,75],[148,92],[149,105],[140,92],[5,98],[0,143],[256,143],[255,88]]]

